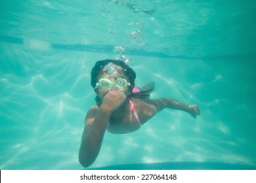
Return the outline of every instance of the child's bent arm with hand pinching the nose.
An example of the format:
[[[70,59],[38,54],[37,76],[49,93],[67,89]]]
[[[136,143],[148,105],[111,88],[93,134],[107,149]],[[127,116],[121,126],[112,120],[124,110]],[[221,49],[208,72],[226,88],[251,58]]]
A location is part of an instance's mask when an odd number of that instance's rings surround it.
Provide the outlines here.
[[[125,99],[126,96],[118,90],[110,91],[100,107],[95,105],[87,112],[79,150],[79,162],[83,167],[89,167],[97,158],[110,116]]]

